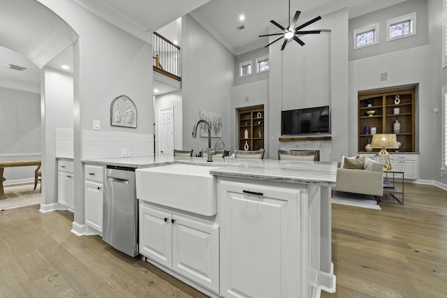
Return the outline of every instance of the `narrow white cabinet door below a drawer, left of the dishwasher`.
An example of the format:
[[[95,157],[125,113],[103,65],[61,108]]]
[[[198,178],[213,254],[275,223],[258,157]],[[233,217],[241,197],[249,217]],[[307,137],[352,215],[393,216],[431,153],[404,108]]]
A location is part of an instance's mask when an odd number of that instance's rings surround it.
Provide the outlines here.
[[[103,232],[103,184],[85,181],[85,223]]]

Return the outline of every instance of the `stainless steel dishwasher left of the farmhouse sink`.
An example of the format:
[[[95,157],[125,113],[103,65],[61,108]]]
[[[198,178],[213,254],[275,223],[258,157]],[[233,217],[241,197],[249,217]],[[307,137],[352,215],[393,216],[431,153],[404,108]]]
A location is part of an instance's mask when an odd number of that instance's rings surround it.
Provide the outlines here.
[[[138,255],[135,168],[107,165],[103,206],[103,240],[126,255]]]

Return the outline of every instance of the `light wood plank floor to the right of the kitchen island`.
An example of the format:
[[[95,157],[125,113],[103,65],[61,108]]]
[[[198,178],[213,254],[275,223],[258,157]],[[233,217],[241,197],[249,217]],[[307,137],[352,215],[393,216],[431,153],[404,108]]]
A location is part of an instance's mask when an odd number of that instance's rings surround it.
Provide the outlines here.
[[[332,204],[337,292],[321,297],[447,297],[447,191],[404,188],[381,211]]]

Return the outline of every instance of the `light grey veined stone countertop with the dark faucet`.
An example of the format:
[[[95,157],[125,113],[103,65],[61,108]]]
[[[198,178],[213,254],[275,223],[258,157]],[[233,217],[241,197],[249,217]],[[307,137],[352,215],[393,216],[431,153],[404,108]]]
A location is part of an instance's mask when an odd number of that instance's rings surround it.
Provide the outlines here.
[[[219,167],[210,174],[218,177],[233,177],[279,181],[293,184],[316,184],[320,186],[335,186],[337,163],[314,161],[278,161],[273,159],[235,159],[213,158],[207,163],[207,158],[146,156],[128,158],[97,158],[82,160],[82,163],[96,163],[121,167],[155,167],[172,163],[189,163]]]

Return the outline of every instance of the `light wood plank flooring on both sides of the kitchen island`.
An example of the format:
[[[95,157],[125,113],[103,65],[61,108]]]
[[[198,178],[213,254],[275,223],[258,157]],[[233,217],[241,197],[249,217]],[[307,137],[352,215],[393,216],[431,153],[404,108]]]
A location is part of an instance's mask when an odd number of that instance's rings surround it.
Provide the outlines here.
[[[321,297],[447,297],[447,191],[405,188],[403,206],[332,205],[337,292]],[[72,222],[38,205],[0,212],[0,297],[206,297],[101,237],[75,236]]]

